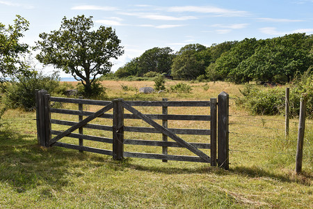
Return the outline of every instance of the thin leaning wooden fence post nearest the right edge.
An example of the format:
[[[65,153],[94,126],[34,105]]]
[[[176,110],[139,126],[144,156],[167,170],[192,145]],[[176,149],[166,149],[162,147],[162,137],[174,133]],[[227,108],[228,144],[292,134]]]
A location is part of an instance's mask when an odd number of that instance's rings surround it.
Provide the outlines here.
[[[298,144],[296,153],[296,173],[302,171],[302,157],[303,157],[303,139],[305,134],[305,114],[307,111],[307,98],[303,96],[300,100],[300,115],[298,127]]]

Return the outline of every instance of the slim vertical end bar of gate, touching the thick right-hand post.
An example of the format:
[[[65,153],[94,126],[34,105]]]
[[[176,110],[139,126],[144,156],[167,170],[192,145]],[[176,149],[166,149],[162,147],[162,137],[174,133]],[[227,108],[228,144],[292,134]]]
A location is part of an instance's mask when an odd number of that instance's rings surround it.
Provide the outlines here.
[[[216,98],[210,99],[210,114],[211,114],[211,121],[210,121],[210,149],[211,149],[211,167],[216,167],[216,104],[217,100]]]

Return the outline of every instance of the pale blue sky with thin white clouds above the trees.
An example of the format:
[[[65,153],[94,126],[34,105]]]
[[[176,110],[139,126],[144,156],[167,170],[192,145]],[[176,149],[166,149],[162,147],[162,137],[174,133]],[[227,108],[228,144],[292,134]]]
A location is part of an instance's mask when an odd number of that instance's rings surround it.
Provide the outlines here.
[[[112,60],[113,72],[153,47],[177,52],[194,43],[210,47],[244,38],[313,34],[313,0],[0,0],[2,24],[13,24],[16,15],[30,22],[21,41],[31,46],[40,33],[58,30],[63,17],[93,16],[95,29],[111,26],[125,50]]]

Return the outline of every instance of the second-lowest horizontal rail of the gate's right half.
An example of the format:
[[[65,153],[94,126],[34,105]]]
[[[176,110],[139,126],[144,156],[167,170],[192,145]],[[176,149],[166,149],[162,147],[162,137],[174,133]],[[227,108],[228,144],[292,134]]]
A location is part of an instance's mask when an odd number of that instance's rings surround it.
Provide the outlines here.
[[[143,145],[143,146],[168,146],[184,148],[184,146],[178,144],[176,141],[152,141],[152,140],[139,140],[139,139],[124,139],[124,144]],[[209,149],[210,144],[206,143],[189,143],[195,148]]]

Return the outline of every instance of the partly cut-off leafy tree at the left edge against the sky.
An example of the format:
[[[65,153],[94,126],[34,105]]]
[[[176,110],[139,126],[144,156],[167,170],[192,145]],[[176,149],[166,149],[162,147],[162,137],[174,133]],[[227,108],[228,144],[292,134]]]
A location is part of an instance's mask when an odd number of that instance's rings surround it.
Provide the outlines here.
[[[14,25],[6,26],[0,23],[0,82],[6,77],[23,75],[28,71],[29,66],[23,56],[29,52],[29,45],[19,42],[23,33],[29,29],[29,22],[17,15]]]

